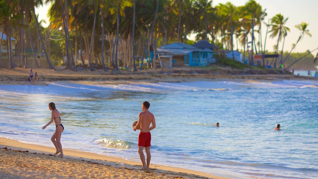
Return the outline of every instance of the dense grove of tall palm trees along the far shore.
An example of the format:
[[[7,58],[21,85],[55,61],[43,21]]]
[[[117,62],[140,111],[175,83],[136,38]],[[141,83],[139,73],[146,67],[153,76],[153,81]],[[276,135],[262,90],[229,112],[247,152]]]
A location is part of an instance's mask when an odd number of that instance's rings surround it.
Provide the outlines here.
[[[38,21],[35,13],[35,7],[43,4],[51,5],[49,22]],[[66,56],[70,69],[75,69],[80,61],[83,67],[91,70],[93,66],[102,66],[105,71],[106,67],[134,67],[136,71],[139,66],[136,59],[147,56],[150,47],[155,50],[173,42],[192,45],[201,39],[207,39],[221,51],[244,47],[238,50],[242,51],[244,59],[251,55],[249,65],[252,66],[253,54],[265,49],[266,38],[261,41],[259,32],[267,27],[261,28],[266,16],[266,9],[255,0],[247,0],[242,6],[231,2],[213,4],[212,0],[0,0],[1,31],[17,39],[16,51],[7,55],[11,68],[15,66],[12,56],[20,59],[20,66],[24,64],[24,68],[28,68],[28,60],[37,62],[35,57],[45,54],[49,64],[61,64]],[[278,13],[270,18],[268,37],[277,38],[273,53],[280,54],[288,37],[288,17]],[[49,27],[44,28],[43,23]],[[296,25],[296,28],[301,35],[293,49],[306,34],[306,38],[311,36],[307,23]],[[195,41],[187,39],[190,34],[196,35]],[[24,51],[30,48],[37,54],[26,59]],[[79,50],[83,60],[74,61],[71,57],[80,57]],[[284,66],[293,61],[292,50],[290,55],[284,54]],[[277,60],[273,59],[272,66],[275,61],[278,64]],[[300,61],[304,62],[307,60]],[[225,57],[220,57],[218,63],[236,69],[247,67]],[[154,64],[140,66],[140,69],[156,67]]]

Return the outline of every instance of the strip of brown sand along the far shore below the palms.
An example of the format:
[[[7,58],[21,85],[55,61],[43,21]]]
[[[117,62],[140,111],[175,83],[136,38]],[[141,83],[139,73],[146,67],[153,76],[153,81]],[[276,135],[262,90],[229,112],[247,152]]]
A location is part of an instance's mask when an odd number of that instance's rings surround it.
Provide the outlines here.
[[[192,81],[219,81],[219,80],[318,80],[314,77],[295,76],[292,74],[282,75],[265,73],[264,71],[255,70],[233,70],[233,69],[197,69],[197,68],[180,68],[153,70],[146,69],[138,72],[131,71],[108,71],[95,70],[90,71],[83,69],[75,72],[71,70],[52,70],[35,68],[38,72],[39,83],[35,85],[47,85],[52,82],[85,82],[97,84],[127,84],[136,82],[192,82]],[[28,82],[29,69],[0,68],[0,84],[7,85],[31,85]],[[275,72],[275,71],[271,71]],[[254,74],[252,74],[254,73]],[[89,81],[89,82],[86,82]]]

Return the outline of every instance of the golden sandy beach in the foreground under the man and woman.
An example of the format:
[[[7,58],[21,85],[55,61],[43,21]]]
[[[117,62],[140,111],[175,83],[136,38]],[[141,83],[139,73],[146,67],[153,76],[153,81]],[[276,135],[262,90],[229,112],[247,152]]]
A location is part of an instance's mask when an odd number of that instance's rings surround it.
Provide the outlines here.
[[[138,170],[139,162],[100,154],[64,149],[63,157],[53,156],[55,148],[26,144],[0,137],[1,178],[213,178],[203,172],[151,164]],[[137,151],[136,151],[137,155]],[[121,168],[124,162],[124,168]]]

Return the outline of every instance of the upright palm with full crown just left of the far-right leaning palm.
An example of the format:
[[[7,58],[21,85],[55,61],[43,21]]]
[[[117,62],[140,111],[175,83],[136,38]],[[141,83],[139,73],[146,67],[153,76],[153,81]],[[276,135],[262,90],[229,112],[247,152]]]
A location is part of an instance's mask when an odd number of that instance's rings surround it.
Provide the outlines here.
[[[276,50],[275,54],[278,53],[278,44],[279,41],[281,41],[282,36],[287,35],[287,31],[289,32],[289,28],[284,26],[287,22],[288,18],[284,19],[284,16],[279,14],[276,14],[272,19],[271,19],[271,26],[272,29],[269,32],[272,32],[270,35],[271,38],[274,38],[278,34],[278,39],[277,39],[277,45],[276,45]],[[276,62],[277,62],[277,57],[275,58],[275,63],[274,63],[274,68],[276,68]]]

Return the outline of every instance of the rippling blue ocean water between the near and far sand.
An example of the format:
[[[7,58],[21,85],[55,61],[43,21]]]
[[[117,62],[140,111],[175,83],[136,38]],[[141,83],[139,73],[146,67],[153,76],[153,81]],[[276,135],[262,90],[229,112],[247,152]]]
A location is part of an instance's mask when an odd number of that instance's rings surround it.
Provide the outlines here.
[[[318,178],[318,81],[0,85],[0,136],[140,161],[132,130],[156,118],[151,162],[231,178]],[[220,127],[215,127],[215,123]],[[273,131],[276,124],[281,131]]]

